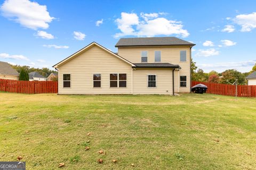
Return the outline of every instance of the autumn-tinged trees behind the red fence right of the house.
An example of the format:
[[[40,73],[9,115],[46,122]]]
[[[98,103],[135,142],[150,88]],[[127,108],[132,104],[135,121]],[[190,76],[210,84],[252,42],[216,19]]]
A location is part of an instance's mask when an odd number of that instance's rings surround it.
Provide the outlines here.
[[[209,73],[205,73],[202,69],[197,70],[196,62],[191,61],[191,77],[193,81],[229,84],[234,83],[237,79],[238,84],[244,85],[247,84],[246,77],[254,71],[256,71],[256,63],[250,72],[245,73],[241,73],[236,69],[225,70],[221,73],[212,70]]]

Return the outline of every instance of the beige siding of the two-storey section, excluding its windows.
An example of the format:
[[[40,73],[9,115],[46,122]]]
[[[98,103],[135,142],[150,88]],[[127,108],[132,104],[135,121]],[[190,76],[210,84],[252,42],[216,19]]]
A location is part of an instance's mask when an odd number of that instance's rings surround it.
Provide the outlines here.
[[[187,61],[180,62],[180,51],[187,51]],[[155,62],[155,51],[161,51],[161,63],[171,63],[178,64],[181,67],[179,71],[180,75],[187,76],[187,87],[180,87],[180,78],[176,77],[175,74],[175,84],[177,84],[178,79],[178,87],[175,87],[179,92],[190,92],[190,46],[146,46],[146,47],[118,47],[118,55],[129,60],[132,63],[141,63],[141,52],[148,52],[148,63]],[[159,63],[159,62],[158,62]],[[174,85],[175,86],[175,85]]]

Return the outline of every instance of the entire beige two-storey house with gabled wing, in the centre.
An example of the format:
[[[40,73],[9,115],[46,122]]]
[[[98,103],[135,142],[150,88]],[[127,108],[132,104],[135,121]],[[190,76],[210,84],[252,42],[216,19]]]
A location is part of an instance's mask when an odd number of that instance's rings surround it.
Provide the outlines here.
[[[53,66],[59,94],[190,92],[194,45],[175,37],[121,38],[113,53],[93,42]]]

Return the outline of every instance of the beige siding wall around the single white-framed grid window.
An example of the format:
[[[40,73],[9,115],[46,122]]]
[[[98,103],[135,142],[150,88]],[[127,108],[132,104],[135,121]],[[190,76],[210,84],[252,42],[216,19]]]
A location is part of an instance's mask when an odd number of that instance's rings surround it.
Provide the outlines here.
[[[147,87],[148,74],[156,74],[156,88]],[[172,95],[172,69],[133,70],[133,94]]]

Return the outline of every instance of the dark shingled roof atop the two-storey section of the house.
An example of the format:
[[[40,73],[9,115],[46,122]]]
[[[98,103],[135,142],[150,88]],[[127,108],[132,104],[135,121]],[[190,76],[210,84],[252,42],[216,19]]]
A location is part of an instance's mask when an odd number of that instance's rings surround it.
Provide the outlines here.
[[[173,45],[189,45],[195,44],[176,37],[149,37],[149,38],[121,38],[115,47],[122,46],[173,46]]]

